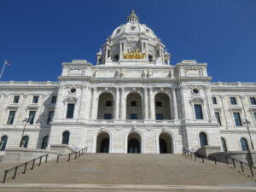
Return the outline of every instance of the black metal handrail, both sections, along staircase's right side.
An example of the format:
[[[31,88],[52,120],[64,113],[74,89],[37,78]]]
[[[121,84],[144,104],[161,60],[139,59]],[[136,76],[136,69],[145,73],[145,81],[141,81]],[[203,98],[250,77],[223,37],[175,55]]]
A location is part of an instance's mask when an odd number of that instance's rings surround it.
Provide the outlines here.
[[[196,157],[196,155],[193,152],[189,151],[186,148],[183,148],[183,154],[188,156],[188,157],[190,156],[191,159],[193,159],[192,156],[194,155],[195,161],[196,161],[196,158],[199,158],[199,157]],[[242,162],[241,160],[236,160],[235,158],[230,157],[230,156],[225,156],[225,159],[226,159],[225,163],[226,163],[227,166],[230,165],[229,159],[232,160],[232,164],[233,164],[233,168],[234,169],[238,169],[238,167],[236,166],[236,163],[235,163],[235,162],[238,162],[240,164],[240,166],[241,166],[241,172],[244,172],[244,170],[245,170],[244,166],[247,166],[249,168],[249,170],[250,170],[251,176],[254,177],[253,169],[254,169],[254,171],[256,171],[256,167],[255,166],[249,165],[249,164],[247,164],[245,162]],[[204,160],[214,160],[215,165],[217,165],[216,157],[211,157],[211,156],[201,157],[202,163],[205,162]]]

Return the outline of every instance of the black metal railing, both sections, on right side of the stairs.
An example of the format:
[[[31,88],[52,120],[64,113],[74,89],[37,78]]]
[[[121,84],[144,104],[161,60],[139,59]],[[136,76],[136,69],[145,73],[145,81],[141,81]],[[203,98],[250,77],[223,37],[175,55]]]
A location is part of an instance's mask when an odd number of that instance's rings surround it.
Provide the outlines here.
[[[215,165],[217,165],[217,160],[216,157],[197,157],[195,153],[189,151],[186,148],[183,148],[183,154],[186,155],[187,157],[190,157],[190,159],[193,159],[196,161],[197,159],[201,159],[201,162],[204,163],[205,160],[213,160]],[[241,160],[236,160],[233,157],[230,156],[225,156],[225,163],[228,166],[233,166],[233,168],[238,171],[238,172],[250,172],[251,177],[254,177],[256,173],[256,167],[249,165],[245,162],[242,162]]]

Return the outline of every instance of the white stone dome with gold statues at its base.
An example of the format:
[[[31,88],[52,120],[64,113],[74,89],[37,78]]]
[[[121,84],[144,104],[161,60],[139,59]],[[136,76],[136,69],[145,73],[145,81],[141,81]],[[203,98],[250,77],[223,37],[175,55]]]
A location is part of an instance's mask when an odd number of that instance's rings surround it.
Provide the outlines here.
[[[97,63],[105,65],[125,65],[132,62],[140,64],[170,64],[171,55],[164,51],[165,45],[145,24],[139,23],[134,10],[127,23],[113,30],[112,35],[97,53]]]

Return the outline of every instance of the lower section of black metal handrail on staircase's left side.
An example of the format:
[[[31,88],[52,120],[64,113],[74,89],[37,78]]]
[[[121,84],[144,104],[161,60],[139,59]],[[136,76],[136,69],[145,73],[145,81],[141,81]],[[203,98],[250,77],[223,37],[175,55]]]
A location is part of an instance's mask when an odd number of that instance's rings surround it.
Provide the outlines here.
[[[23,170],[23,172],[21,172],[21,173],[22,173],[22,174],[25,174],[25,173],[26,173],[26,167],[27,167],[27,165],[28,165],[29,163],[32,163],[32,167],[30,168],[31,170],[34,169],[36,160],[39,160],[38,166],[41,166],[43,157],[45,157],[44,163],[47,163],[48,155],[49,155],[49,154],[43,154],[43,155],[41,155],[41,156],[39,156],[39,157],[37,157],[37,158],[34,158],[34,159],[32,159],[32,160],[28,160],[28,161],[26,161],[25,163],[22,163],[22,164],[20,164],[20,165],[18,165],[18,166],[14,166],[14,167],[12,167],[12,168],[9,168],[9,169],[5,170],[5,171],[4,171],[4,176],[3,176],[3,183],[6,182],[7,174],[8,174],[9,172],[13,171],[13,170],[15,170],[15,173],[14,173],[14,176],[12,177],[12,179],[15,179],[15,177],[16,177],[16,175],[17,175],[17,171],[18,171],[18,169],[19,169],[21,166],[24,166],[24,170]]]

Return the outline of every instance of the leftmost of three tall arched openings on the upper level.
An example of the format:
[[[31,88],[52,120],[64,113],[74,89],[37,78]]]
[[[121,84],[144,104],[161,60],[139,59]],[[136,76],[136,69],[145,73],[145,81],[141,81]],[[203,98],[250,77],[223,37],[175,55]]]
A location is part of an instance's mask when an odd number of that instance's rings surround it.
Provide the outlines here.
[[[97,119],[113,119],[113,95],[102,93],[99,96]]]

